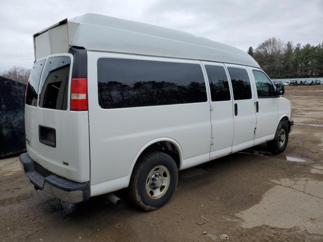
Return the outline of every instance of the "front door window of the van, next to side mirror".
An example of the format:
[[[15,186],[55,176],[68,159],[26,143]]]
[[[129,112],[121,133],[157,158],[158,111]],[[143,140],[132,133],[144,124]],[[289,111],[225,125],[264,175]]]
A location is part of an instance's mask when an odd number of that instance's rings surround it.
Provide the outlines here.
[[[274,86],[267,76],[260,71],[252,70],[256,81],[257,95],[259,98],[274,97]]]

